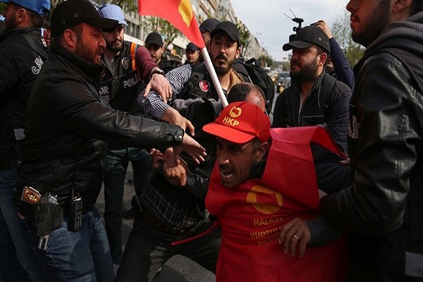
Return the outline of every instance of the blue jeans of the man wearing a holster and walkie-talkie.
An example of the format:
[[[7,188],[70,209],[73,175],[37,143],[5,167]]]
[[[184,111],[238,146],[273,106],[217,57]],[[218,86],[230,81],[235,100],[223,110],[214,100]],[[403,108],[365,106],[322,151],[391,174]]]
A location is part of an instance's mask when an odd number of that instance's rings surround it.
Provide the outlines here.
[[[32,244],[39,238],[30,233]],[[92,207],[82,217],[80,231],[68,231],[68,220],[51,232],[46,251],[37,250],[42,271],[51,282],[111,282],[114,269],[99,212]]]

